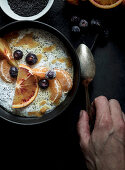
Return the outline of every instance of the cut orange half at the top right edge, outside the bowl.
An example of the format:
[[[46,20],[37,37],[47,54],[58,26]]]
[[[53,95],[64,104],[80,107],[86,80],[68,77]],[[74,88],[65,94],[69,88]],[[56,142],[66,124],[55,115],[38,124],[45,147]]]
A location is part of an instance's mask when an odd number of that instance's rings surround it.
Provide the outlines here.
[[[89,0],[93,5],[103,9],[110,9],[118,6],[123,0]]]

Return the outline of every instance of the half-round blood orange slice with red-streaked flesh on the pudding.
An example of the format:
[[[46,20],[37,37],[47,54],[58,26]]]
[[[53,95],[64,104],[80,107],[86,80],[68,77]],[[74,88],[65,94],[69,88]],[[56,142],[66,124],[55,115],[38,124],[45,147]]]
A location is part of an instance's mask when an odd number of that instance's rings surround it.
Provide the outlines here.
[[[38,82],[31,69],[24,64],[19,65],[15,95],[12,108],[21,108],[29,105],[38,93]]]

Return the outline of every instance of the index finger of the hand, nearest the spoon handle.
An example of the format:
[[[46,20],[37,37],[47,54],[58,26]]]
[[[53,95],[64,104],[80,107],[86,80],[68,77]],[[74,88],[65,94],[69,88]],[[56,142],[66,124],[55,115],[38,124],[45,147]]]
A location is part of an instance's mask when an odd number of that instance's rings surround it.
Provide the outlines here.
[[[96,107],[95,127],[108,127],[112,123],[109,102],[106,97],[99,96],[94,100]]]

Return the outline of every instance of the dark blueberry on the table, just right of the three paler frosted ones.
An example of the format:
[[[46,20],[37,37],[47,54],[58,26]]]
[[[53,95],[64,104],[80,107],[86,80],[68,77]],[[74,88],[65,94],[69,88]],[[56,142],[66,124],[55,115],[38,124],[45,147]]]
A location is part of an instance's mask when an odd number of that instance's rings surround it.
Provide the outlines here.
[[[91,20],[91,27],[95,30],[95,31],[102,31],[103,30],[103,26],[102,26],[102,22],[98,19],[92,19]]]

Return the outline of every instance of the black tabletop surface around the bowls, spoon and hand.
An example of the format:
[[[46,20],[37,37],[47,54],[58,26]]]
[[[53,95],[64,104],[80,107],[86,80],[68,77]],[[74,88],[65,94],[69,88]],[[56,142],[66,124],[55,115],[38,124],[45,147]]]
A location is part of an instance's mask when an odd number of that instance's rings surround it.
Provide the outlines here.
[[[93,50],[96,76],[89,87],[90,99],[93,101],[99,95],[105,95],[108,99],[115,98],[125,112],[125,8],[120,6],[113,10],[101,10],[89,2],[74,7],[67,5],[63,0],[55,0],[51,10],[39,19],[61,31],[74,48],[82,42],[91,47],[94,38],[91,32],[83,33],[75,39],[72,36],[72,15],[79,15],[89,21],[92,18],[101,19],[110,29],[111,36],[107,43],[102,45],[97,42]],[[0,10],[0,26],[13,21]],[[79,111],[84,108],[85,95],[80,84],[69,108],[50,122],[20,126],[0,119],[0,146],[3,158],[1,163],[6,161],[3,165],[8,167],[9,164],[9,168],[20,166],[35,169],[44,167],[86,170],[76,130]]]

